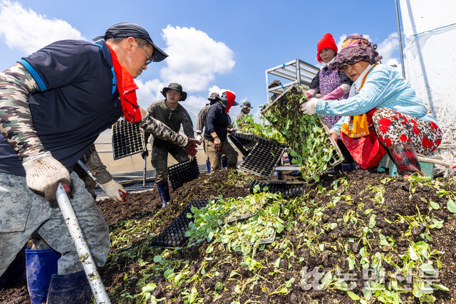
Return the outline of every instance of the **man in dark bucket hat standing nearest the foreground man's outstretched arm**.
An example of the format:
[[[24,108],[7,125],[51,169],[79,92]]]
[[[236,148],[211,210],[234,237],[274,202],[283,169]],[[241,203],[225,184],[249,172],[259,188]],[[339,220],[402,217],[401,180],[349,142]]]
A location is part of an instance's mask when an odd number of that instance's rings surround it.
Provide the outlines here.
[[[156,120],[163,122],[170,127],[174,132],[179,132],[180,126],[184,130],[184,134],[189,138],[193,138],[193,123],[187,110],[185,110],[180,101],[187,99],[187,92],[182,90],[182,85],[179,83],[170,83],[163,88],[162,95],[165,97],[147,108],[149,115]],[[150,133],[145,132],[145,141],[147,142]],[[195,156],[196,150],[190,154]],[[162,200],[162,208],[165,208],[170,201],[170,187],[168,185],[168,154],[171,154],[177,162],[185,162],[189,159],[189,154],[182,147],[160,140],[158,137],[152,138],[152,166],[155,168],[155,185],[157,186],[158,194]]]

